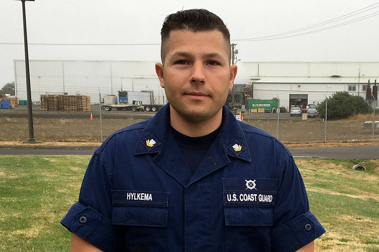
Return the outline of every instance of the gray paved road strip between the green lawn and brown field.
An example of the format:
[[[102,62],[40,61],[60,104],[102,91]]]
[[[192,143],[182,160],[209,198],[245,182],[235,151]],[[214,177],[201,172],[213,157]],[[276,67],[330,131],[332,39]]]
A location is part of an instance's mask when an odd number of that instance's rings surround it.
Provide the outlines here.
[[[321,156],[335,159],[379,159],[379,145],[289,148],[293,156]],[[92,155],[94,149],[6,149],[0,155]]]

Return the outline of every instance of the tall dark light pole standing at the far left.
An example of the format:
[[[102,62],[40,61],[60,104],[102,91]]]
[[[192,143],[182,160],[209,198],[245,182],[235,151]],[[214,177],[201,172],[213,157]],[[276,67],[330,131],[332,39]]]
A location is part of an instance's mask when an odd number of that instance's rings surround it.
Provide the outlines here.
[[[31,110],[30,72],[29,72],[28,39],[27,39],[27,33],[26,33],[25,1],[34,1],[34,0],[21,0],[23,30],[24,30],[26,91],[27,91],[27,100],[28,100],[28,128],[29,128],[29,139],[28,141],[25,141],[25,142],[35,143],[36,141],[34,139],[33,112]]]

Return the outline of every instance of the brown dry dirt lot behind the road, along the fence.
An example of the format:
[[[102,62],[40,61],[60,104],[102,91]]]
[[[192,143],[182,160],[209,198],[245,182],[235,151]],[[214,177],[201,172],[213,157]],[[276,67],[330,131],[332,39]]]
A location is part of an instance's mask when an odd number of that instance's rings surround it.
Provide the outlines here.
[[[97,108],[97,110],[96,110]],[[91,112],[41,111],[33,106],[34,137],[38,141],[58,142],[100,142],[100,109],[92,105]],[[132,111],[103,111],[103,139],[114,131],[152,117],[154,113]],[[372,120],[372,115],[359,115],[351,119],[328,121],[327,142],[369,142],[371,129],[363,129],[364,121]],[[277,136],[277,114],[256,113],[244,115],[244,122]],[[0,141],[24,141],[28,138],[27,106],[21,105],[11,110],[0,110]],[[325,122],[322,119],[301,120],[289,113],[281,113],[279,120],[279,140],[289,143],[324,142]],[[379,140],[379,129],[376,129]]]

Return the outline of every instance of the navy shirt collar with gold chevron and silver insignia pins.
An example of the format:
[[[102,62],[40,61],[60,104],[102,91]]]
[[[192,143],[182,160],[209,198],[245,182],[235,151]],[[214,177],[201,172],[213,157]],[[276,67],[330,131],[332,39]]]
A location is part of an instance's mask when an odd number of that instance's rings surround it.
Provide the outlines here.
[[[170,130],[169,116],[170,105],[166,104],[147,122],[136,144],[134,155],[161,152]],[[225,105],[222,107],[222,126],[219,134],[226,155],[252,162],[241,125]]]

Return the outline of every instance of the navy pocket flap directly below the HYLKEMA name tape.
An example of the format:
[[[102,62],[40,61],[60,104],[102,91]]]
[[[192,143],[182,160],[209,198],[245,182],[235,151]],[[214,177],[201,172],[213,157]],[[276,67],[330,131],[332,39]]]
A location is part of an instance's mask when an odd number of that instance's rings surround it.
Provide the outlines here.
[[[167,227],[168,208],[148,206],[113,206],[112,224]]]

